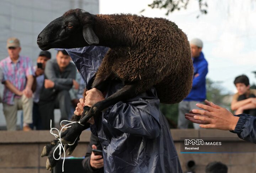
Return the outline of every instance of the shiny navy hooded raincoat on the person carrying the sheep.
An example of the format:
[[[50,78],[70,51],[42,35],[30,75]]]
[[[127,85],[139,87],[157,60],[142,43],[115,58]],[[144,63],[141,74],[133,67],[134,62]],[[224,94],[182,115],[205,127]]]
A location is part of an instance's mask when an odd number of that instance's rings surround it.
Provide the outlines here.
[[[85,49],[86,54],[92,54]],[[81,48],[66,51],[78,69],[84,68],[79,69],[82,76],[90,73],[87,67],[92,68],[84,63],[95,64],[94,59],[99,59],[98,56],[90,59],[80,53],[77,56],[75,52],[81,52]],[[86,77],[83,79],[87,80]],[[122,82],[113,80],[106,88],[106,98],[122,87]],[[182,173],[170,128],[159,110],[159,104],[156,90],[152,87],[94,117],[95,124],[91,125],[91,131],[100,139],[106,173]]]

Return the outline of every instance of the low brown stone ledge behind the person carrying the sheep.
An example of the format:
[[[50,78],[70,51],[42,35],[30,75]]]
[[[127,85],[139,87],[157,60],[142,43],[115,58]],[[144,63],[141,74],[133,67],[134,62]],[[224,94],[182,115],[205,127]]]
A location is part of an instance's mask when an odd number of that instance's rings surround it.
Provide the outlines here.
[[[72,156],[85,155],[90,139],[90,131],[84,131]],[[229,168],[228,173],[254,173],[256,171],[256,150],[252,153],[222,154],[181,154],[182,137],[223,137],[222,143],[234,151],[240,148],[255,148],[255,144],[244,142],[236,134],[219,130],[171,129],[183,171],[190,160],[196,162],[196,173],[204,173],[209,162],[220,161]],[[229,140],[232,138],[233,140]],[[0,131],[0,172],[1,173],[49,173],[45,169],[46,157],[41,158],[41,151],[54,137],[49,131],[7,132]],[[225,140],[226,139],[226,140]]]

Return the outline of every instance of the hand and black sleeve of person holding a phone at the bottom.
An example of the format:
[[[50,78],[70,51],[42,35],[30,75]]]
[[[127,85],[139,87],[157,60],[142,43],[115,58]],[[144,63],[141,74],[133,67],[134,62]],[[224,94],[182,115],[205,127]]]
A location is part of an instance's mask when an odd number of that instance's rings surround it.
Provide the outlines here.
[[[91,134],[90,143],[87,148],[85,158],[82,161],[82,166],[87,173],[104,172],[102,147],[100,140],[94,134]]]

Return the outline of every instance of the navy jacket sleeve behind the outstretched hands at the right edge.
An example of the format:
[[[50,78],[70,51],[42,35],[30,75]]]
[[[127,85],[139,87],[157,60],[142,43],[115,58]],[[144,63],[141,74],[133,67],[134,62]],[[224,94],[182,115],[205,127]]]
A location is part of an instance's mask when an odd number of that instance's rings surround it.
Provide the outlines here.
[[[256,144],[256,117],[247,114],[236,116],[239,116],[239,120],[235,130],[231,132],[237,133],[238,137],[241,139]]]

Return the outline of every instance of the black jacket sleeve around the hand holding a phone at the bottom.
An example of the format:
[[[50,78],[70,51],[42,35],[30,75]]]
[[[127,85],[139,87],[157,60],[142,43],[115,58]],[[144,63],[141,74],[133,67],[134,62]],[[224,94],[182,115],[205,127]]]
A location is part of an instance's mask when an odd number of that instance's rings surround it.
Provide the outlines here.
[[[91,159],[91,152],[92,152],[92,145],[96,145],[98,150],[102,150],[100,140],[95,135],[91,134],[90,143],[87,148],[87,152],[85,154],[85,158],[82,161],[82,166],[85,169],[86,173],[99,173],[103,172],[103,168],[100,169],[92,169],[90,165],[90,159]]]

